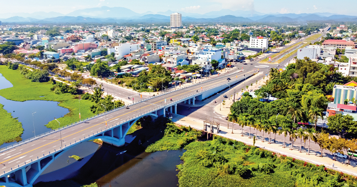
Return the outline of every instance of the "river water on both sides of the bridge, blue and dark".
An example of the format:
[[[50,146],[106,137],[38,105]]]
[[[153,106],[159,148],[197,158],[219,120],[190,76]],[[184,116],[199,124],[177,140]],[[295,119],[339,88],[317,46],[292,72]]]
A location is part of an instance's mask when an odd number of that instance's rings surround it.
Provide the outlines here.
[[[12,84],[0,73],[0,89],[10,88]],[[24,102],[12,101],[0,96],[4,109],[18,118],[24,128],[22,139],[34,136],[33,121],[36,135],[49,131],[44,125],[68,113],[67,109],[58,106],[55,101],[30,100]],[[34,120],[32,118],[34,114]],[[178,183],[176,165],[181,163],[180,156],[185,150],[144,152],[138,145],[138,140],[146,139],[127,135],[124,147],[99,145],[93,142],[83,142],[74,149],[69,149],[50,164],[35,181],[36,186],[49,186],[50,181],[73,181],[79,187],[83,184],[97,182],[100,186],[176,186]],[[4,144],[0,147],[11,145]],[[123,154],[118,154],[122,151]],[[75,161],[68,156],[78,155],[81,161]],[[80,184],[80,185],[79,185]]]

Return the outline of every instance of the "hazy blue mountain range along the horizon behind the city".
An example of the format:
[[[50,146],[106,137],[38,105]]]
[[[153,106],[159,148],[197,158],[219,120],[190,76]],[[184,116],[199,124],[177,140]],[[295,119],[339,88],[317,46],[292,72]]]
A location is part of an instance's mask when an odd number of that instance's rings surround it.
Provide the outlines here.
[[[168,23],[173,11],[136,13],[123,7],[97,7],[75,10],[68,14],[57,12],[0,13],[4,23]],[[183,23],[304,23],[308,21],[350,21],[356,22],[357,16],[332,13],[314,14],[263,14],[257,11],[220,10],[206,14],[182,13]]]

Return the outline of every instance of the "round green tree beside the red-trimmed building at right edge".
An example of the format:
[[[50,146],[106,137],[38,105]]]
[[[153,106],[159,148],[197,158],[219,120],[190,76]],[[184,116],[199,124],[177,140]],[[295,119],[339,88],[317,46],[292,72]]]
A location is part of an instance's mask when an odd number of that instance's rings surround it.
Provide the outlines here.
[[[329,116],[327,121],[328,128],[339,133],[340,137],[346,135],[346,133],[357,132],[357,123],[353,121],[353,117],[350,115],[336,114],[335,116]]]

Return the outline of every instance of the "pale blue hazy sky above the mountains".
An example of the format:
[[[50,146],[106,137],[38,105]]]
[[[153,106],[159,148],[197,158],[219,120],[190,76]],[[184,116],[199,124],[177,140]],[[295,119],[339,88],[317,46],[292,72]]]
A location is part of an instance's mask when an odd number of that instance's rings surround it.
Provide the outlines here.
[[[262,13],[314,13],[330,12],[346,15],[357,15],[355,7],[357,1],[347,0],[337,5],[333,0],[180,0],[180,1],[147,1],[147,0],[62,0],[62,1],[43,1],[43,0],[15,0],[16,3],[0,0],[1,12],[59,12],[67,14],[74,10],[93,8],[100,6],[125,7],[138,13],[147,11],[164,12],[167,10],[207,13],[221,9],[230,10],[255,10]]]

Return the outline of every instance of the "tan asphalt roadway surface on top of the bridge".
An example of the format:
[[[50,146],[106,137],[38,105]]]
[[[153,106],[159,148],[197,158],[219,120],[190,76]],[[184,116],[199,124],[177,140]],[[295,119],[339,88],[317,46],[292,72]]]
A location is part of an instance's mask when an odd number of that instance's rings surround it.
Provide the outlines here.
[[[234,79],[237,75],[241,76],[244,73],[247,74],[246,71],[243,71],[232,74],[228,77]],[[167,98],[167,102],[170,102],[169,98],[172,98],[172,100],[178,100],[190,94],[195,94],[196,90],[200,90],[201,87],[203,89],[209,89],[218,84],[224,83],[226,82],[226,78],[227,77],[222,76],[221,78],[214,79],[207,83],[198,84],[190,88],[180,89],[163,96],[155,97],[132,105],[130,109],[121,109],[119,111],[109,113],[106,116],[94,118],[85,123],[65,128],[61,130],[61,134],[60,132],[56,132],[46,137],[42,137],[32,142],[1,152],[0,175],[3,174],[4,171],[9,171],[11,168],[17,168],[18,165],[23,165],[25,162],[29,162],[31,159],[37,158],[37,156],[42,157],[41,155],[47,155],[48,152],[52,153],[55,149],[59,150],[61,147],[61,137],[62,146],[65,147],[66,145],[69,145],[70,142],[74,143],[74,141],[79,141],[80,139],[83,140],[83,138],[88,137],[88,135],[92,135],[94,132],[104,130],[106,127],[106,120],[108,126],[111,126],[125,119],[135,118],[139,116],[139,114],[143,114],[155,108],[159,108],[161,105],[165,105],[165,98]]]

